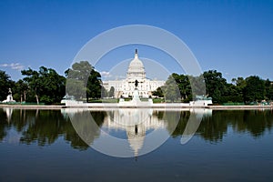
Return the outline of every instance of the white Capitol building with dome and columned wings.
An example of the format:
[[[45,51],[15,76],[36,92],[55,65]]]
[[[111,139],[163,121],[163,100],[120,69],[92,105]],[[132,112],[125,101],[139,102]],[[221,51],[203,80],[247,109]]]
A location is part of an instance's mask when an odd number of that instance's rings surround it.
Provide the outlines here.
[[[145,68],[142,61],[138,58],[137,49],[135,58],[130,62],[126,74],[126,79],[123,80],[107,80],[103,81],[103,86],[106,90],[110,90],[111,86],[115,88],[115,97],[133,96],[135,90],[135,82],[138,82],[138,94],[140,97],[152,96],[152,92],[157,90],[157,87],[164,86],[163,80],[150,80],[146,77]]]

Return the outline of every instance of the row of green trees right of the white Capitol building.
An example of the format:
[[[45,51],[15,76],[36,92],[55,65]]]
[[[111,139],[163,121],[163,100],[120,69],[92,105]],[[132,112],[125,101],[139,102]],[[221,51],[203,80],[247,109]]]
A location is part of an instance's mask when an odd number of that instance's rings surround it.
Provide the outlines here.
[[[198,84],[204,80],[206,85]],[[227,83],[222,74],[216,70],[205,71],[202,76],[195,77],[174,73],[168,77],[165,86],[158,87],[153,95],[171,101],[188,102],[193,99],[191,85],[195,85],[196,94],[206,94],[207,97],[212,98],[214,104],[228,102],[251,104],[273,100],[273,82],[269,79],[248,76],[233,78],[232,83]]]

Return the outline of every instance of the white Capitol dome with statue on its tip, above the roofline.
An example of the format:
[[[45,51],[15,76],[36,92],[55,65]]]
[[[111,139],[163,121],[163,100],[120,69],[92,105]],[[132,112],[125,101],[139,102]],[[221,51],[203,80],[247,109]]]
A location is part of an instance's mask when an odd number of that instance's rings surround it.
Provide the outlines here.
[[[137,49],[135,58],[131,61],[128,66],[127,78],[128,79],[144,79],[146,77],[145,68],[140,59],[138,59]]]

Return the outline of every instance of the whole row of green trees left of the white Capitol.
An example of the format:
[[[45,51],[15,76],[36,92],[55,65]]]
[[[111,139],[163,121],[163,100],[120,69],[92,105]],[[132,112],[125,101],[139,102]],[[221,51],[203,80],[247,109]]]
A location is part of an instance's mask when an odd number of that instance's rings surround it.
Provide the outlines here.
[[[60,76],[56,70],[45,66],[38,71],[28,68],[21,73],[24,78],[15,82],[0,70],[0,101],[5,100],[8,88],[12,88],[15,101],[37,104],[60,103],[67,90],[77,99],[101,96],[101,76],[87,61],[75,63],[66,70],[66,76]],[[87,86],[84,85],[85,81]],[[66,82],[69,82],[69,88],[66,88]]]

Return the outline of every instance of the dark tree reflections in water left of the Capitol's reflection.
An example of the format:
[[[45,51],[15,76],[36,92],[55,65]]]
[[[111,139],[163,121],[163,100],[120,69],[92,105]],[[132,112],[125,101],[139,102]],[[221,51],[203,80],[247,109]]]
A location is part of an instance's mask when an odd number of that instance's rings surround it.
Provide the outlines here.
[[[92,112],[98,126],[102,125],[105,112]],[[10,127],[22,133],[20,142],[24,144],[36,143],[39,146],[51,145],[60,136],[64,136],[71,146],[86,149],[88,145],[76,133],[68,117],[59,110],[25,110],[14,109],[11,120],[7,122],[6,113],[0,109],[0,141],[6,136]],[[97,133],[97,132],[96,132]]]

